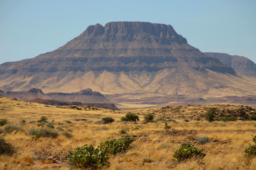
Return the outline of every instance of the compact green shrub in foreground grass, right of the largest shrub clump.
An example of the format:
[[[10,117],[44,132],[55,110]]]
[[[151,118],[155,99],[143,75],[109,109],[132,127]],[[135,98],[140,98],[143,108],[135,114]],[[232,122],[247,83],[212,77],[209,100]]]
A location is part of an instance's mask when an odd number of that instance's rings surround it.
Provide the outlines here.
[[[174,152],[173,157],[175,161],[182,162],[193,157],[203,158],[205,155],[203,149],[194,147],[194,143],[181,143],[180,148]]]

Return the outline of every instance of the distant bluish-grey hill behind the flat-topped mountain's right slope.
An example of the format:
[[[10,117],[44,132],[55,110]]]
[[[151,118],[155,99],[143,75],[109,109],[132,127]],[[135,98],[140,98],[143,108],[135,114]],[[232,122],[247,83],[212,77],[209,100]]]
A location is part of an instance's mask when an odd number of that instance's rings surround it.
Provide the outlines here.
[[[204,53],[232,67],[237,73],[256,77],[256,64],[246,57],[225,53]]]

